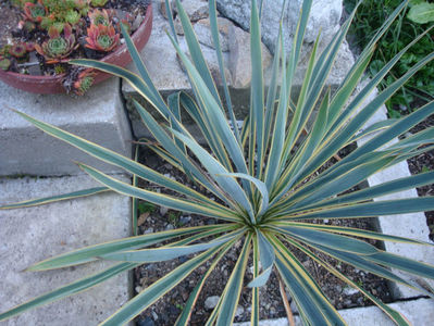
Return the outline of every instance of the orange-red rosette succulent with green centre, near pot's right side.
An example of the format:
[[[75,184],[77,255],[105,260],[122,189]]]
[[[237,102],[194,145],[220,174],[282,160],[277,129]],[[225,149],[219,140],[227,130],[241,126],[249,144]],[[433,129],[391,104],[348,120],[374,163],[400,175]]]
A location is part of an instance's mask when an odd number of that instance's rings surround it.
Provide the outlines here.
[[[97,51],[109,52],[119,45],[120,35],[113,26],[90,25],[87,28],[86,47]]]

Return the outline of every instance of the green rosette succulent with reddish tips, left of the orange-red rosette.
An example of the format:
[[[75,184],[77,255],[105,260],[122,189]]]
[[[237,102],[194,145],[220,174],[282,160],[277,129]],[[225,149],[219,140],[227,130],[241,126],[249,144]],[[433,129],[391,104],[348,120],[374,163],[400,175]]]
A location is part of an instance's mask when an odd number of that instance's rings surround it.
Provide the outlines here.
[[[71,25],[64,25],[63,36],[60,35],[54,26],[49,28],[48,35],[50,38],[41,46],[35,45],[36,51],[44,55],[47,61],[59,62],[67,58],[76,49],[75,36],[72,33]]]

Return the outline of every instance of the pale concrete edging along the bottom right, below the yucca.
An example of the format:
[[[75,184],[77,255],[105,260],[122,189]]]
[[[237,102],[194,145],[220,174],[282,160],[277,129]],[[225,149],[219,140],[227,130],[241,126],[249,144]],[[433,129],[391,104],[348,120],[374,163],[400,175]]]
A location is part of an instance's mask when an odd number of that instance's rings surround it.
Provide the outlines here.
[[[434,323],[434,300],[418,299],[388,304],[390,308],[402,313],[414,326],[431,326]],[[394,326],[385,313],[376,306],[364,306],[339,310],[345,322],[351,326]],[[295,316],[296,325],[302,325],[298,315]],[[250,323],[238,323],[235,326],[249,326]],[[289,326],[286,318],[259,322],[260,326]]]

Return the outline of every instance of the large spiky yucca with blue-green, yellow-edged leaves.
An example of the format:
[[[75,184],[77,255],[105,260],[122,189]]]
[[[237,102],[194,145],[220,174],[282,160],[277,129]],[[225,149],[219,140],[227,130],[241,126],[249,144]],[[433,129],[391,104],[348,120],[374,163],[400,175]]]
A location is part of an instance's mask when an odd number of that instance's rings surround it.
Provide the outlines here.
[[[244,276],[249,259],[252,260],[253,266],[253,280],[248,284],[252,291],[252,325],[258,325],[259,287],[268,281],[272,272],[277,273],[285,284],[299,309],[300,318],[305,325],[345,325],[317,281],[292,251],[294,248],[303,252],[349,286],[361,291],[368,300],[383,310],[395,323],[409,325],[409,322],[400,313],[384,304],[321,256],[326,254],[385,279],[411,288],[419,288],[418,285],[402,279],[390,272],[389,268],[401,269],[422,278],[433,279],[434,266],[387,253],[361,240],[361,238],[421,246],[430,246],[430,243],[364,229],[322,225],[312,223],[312,221],[373,217],[434,209],[434,198],[429,197],[372,201],[374,198],[385,195],[432,184],[434,172],[422,173],[343,195],[370,175],[433,148],[433,128],[392,143],[390,141],[406,134],[412,126],[433,114],[434,102],[398,121],[374,125],[362,134],[358,134],[358,131],[406,80],[434,59],[434,53],[416,64],[401,78],[360,110],[361,103],[375,89],[375,86],[398,62],[405,51],[418,40],[414,40],[398,53],[350,100],[350,96],[369,64],[375,42],[405,9],[407,2],[402,2],[384,23],[371,43],[362,51],[339,88],[332,92],[325,86],[325,80],[350,26],[352,13],[331,43],[318,55],[317,41],[301,90],[297,100],[293,102],[293,79],[300,58],[311,4],[311,0],[306,0],[302,3],[297,35],[288,53],[282,46],[281,28],[276,40],[271,84],[265,95],[261,66],[260,10],[257,7],[257,1],[251,1],[252,82],[250,113],[240,129],[231,128],[231,124],[236,126],[236,116],[223,73],[215,0],[209,1],[209,12],[223,80],[224,101],[219,96],[190,22],[179,1],[177,1],[178,14],[184,27],[190,59],[181,50],[176,34],[172,33],[170,37],[188,73],[193,97],[177,92],[171,95],[164,101],[150,80],[139,53],[126,34],[126,43],[138,68],[137,75],[103,62],[90,60],[74,60],[72,62],[73,64],[109,72],[129,83],[157,110],[163,121],[163,123],[157,122],[140,103],[134,102],[137,112],[157,140],[148,142],[148,147],[166,162],[173,164],[174,167],[185,173],[196,185],[206,188],[219,201],[211,200],[196,190],[137,163],[135,160],[122,156],[18,112],[21,116],[46,133],[92,156],[124,168],[134,176],[134,180],[137,180],[137,178],[145,179],[165,187],[171,190],[171,193],[177,193],[177,196],[141,189],[136,187],[135,183],[128,185],[94,167],[79,164],[84,172],[101,183],[103,187],[86,189],[57,198],[11,204],[2,206],[2,209],[36,205],[52,200],[90,196],[101,191],[116,191],[135,200],[140,199],[173,210],[212,217],[218,223],[134,236],[42,261],[30,266],[28,271],[61,268],[96,260],[119,261],[119,264],[2,313],[0,321],[53,299],[60,299],[92,287],[140,264],[189,255],[188,261],[146,288],[102,323],[102,325],[115,326],[127,323],[185,279],[195,268],[210,261],[211,267],[197,283],[176,322],[176,325],[187,325],[207,278],[235,243],[240,242],[236,265],[207,325],[226,326],[232,324],[244,287]],[[168,1],[166,10],[170,10]],[[171,15],[169,16],[171,17]],[[171,29],[174,32],[172,21]],[[183,125],[182,110],[185,110],[200,127],[206,147],[199,145]],[[308,124],[308,121],[313,122]],[[358,137],[374,131],[372,138],[363,146],[328,168],[321,168],[340,149],[354,142]],[[424,146],[423,149],[421,149],[422,146]],[[161,246],[154,248],[154,244]],[[423,289],[420,290],[424,291]],[[426,291],[424,293],[432,296]]]

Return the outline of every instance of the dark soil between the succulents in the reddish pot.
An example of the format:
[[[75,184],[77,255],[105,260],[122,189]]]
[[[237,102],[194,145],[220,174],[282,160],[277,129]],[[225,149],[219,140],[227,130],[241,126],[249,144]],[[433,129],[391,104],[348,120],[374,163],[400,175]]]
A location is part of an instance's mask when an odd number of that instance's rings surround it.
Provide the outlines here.
[[[117,23],[121,20],[127,20],[132,26],[132,33],[137,29],[142,18],[145,17],[146,10],[150,0],[110,0],[103,7],[107,10],[111,10],[113,14],[113,26],[119,29]],[[18,28],[18,22],[22,20],[22,13],[20,9],[11,4],[11,1],[1,1],[0,3],[0,48],[5,45],[12,45],[17,42],[35,42],[41,45],[48,39],[47,30],[36,28],[33,32],[27,32],[25,28]],[[67,59],[102,59],[110,54],[110,52],[100,52],[92,49],[85,48],[86,28],[89,27],[89,18],[86,17],[87,26],[74,26],[74,34],[76,42],[80,45],[74,50]],[[116,30],[120,33],[120,30]],[[123,42],[121,36],[121,43]],[[29,53],[26,61],[15,62],[12,58],[13,63],[10,71],[29,74],[29,75],[54,75],[57,72],[67,72],[70,65],[66,63],[47,64],[42,55],[33,51]]]

